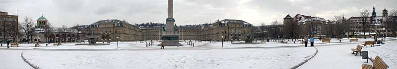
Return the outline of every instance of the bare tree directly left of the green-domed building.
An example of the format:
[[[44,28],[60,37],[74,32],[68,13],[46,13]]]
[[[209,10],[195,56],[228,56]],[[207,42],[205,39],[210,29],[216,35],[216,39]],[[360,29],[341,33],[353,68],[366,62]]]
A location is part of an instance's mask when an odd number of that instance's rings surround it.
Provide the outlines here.
[[[24,22],[20,26],[23,31],[23,37],[25,37],[28,43],[32,43],[32,36],[34,35],[35,23],[31,18],[25,17]]]

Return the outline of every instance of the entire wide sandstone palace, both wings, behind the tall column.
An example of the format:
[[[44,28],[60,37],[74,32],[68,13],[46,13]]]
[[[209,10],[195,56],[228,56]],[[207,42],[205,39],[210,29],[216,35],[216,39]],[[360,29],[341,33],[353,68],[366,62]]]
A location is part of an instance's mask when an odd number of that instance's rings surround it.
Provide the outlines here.
[[[164,24],[161,25],[132,25],[120,20],[102,20],[90,25],[90,30],[94,30],[97,36],[96,41],[108,42],[116,41],[140,41],[140,40],[162,40]],[[244,40],[254,32],[253,25],[242,20],[222,20],[214,23],[199,25],[178,26],[180,40],[223,40],[237,41]],[[136,39],[135,39],[136,38]]]

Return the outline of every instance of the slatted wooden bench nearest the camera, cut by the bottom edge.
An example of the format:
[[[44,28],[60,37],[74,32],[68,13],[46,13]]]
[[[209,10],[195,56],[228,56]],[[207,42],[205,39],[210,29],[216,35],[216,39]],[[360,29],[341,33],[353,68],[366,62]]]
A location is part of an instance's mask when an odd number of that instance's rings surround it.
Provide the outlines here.
[[[375,60],[373,61],[372,65],[368,65],[368,64],[362,64],[361,65],[361,69],[388,69],[389,66],[383,62],[383,60],[379,57],[376,56]]]

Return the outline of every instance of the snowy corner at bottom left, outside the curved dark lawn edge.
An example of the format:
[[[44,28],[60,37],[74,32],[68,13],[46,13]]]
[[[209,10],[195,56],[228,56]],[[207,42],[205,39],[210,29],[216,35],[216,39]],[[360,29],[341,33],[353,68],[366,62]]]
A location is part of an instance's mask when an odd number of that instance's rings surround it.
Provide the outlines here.
[[[0,69],[33,69],[21,57],[23,50],[0,49]]]

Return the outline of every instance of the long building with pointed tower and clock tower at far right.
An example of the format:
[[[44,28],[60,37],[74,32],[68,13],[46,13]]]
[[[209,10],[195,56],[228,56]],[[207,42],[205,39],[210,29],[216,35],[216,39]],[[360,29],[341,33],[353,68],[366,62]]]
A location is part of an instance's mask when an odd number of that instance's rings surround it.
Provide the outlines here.
[[[351,17],[347,19],[346,36],[349,37],[373,37],[375,35],[395,36],[396,35],[396,14],[388,15],[386,8],[382,16],[377,16],[375,6],[371,16]],[[364,29],[365,27],[365,29]],[[385,28],[385,30],[383,29]],[[364,34],[365,31],[365,34]]]

